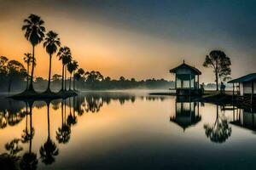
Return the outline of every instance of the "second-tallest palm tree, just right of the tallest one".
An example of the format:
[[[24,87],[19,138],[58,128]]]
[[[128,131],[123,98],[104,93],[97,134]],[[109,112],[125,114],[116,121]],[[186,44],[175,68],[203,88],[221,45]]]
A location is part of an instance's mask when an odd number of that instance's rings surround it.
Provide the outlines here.
[[[48,77],[48,86],[46,92],[50,92],[50,75],[51,75],[51,56],[55,54],[58,47],[61,46],[60,38],[58,34],[54,31],[49,31],[46,34],[46,38],[44,41],[44,48],[46,48],[46,52],[49,54],[49,77]]]

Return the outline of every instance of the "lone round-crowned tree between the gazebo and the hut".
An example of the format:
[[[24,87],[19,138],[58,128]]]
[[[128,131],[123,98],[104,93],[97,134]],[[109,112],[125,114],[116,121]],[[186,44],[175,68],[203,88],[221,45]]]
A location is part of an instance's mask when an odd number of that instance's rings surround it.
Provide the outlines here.
[[[223,51],[212,50],[210,54],[207,55],[203,65],[205,67],[212,67],[215,74],[216,90],[218,91],[218,79],[223,78],[225,81],[230,78],[230,58]]]

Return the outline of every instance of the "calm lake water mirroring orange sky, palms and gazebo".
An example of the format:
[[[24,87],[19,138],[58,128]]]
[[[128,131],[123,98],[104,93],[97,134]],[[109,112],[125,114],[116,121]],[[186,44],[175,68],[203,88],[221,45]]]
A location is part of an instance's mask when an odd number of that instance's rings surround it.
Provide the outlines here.
[[[254,115],[145,93],[0,99],[0,162],[64,170],[254,168]]]

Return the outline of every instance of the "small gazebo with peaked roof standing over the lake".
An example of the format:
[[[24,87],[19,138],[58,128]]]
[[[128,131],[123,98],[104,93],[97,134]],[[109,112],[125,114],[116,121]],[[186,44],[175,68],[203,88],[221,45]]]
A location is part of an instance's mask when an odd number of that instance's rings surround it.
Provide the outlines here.
[[[202,91],[199,87],[199,76],[201,75],[201,71],[194,66],[187,65],[183,60],[183,64],[170,70],[170,73],[175,74],[174,90],[176,90],[177,95],[201,94]]]

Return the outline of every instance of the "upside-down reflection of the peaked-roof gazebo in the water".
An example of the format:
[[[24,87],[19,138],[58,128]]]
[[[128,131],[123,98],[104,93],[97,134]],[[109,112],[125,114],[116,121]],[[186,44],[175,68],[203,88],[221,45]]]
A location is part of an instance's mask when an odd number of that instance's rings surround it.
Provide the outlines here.
[[[175,109],[176,115],[171,116],[170,121],[182,127],[183,131],[201,121],[199,102],[176,102]]]

